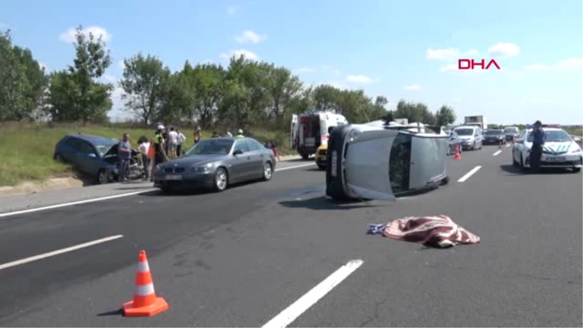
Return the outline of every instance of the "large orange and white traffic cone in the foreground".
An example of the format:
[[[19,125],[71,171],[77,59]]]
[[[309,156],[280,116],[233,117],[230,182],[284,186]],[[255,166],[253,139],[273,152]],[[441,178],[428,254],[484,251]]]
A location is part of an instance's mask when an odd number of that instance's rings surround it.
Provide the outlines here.
[[[150,266],[147,264],[146,251],[141,250],[138,256],[138,272],[134,299],[123,305],[125,316],[154,316],[168,309],[168,303],[156,297]]]

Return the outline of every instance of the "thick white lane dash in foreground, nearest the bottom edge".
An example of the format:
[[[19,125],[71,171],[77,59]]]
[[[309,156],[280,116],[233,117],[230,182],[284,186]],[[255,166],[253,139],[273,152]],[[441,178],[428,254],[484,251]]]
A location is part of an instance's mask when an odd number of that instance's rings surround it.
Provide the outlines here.
[[[314,305],[340,282],[345,280],[350,274],[356,271],[363,264],[362,260],[352,260],[334,271],[325,280],[320,282],[316,287],[301,296],[296,302],[293,302],[289,307],[273,317],[268,323],[261,326],[261,328],[285,328],[288,324],[297,319],[305,310]]]

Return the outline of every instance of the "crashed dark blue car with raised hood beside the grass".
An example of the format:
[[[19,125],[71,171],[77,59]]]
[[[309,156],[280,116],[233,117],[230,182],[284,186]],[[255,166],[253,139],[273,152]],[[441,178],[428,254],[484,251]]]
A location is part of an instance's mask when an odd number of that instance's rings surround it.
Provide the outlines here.
[[[89,134],[65,135],[55,146],[54,159],[70,163],[79,172],[93,177],[97,183],[112,182],[118,178],[118,141]],[[138,151],[132,149],[132,159],[126,173],[129,179],[138,179],[143,170],[138,165]]]

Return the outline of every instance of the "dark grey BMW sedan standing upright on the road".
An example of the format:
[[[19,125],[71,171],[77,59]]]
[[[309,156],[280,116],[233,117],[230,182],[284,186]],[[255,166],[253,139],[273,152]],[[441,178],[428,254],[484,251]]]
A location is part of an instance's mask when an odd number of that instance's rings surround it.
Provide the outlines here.
[[[198,142],[183,157],[161,163],[154,169],[154,187],[177,189],[227,189],[229,184],[270,180],[275,157],[252,138],[210,138]]]

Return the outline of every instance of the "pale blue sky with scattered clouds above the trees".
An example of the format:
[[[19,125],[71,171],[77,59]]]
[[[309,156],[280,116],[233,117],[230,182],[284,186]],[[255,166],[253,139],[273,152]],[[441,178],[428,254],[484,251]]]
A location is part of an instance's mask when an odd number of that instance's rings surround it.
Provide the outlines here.
[[[69,29],[91,27],[108,40],[111,81],[138,51],[174,70],[187,59],[226,64],[239,51],[305,83],[385,95],[389,108],[405,99],[432,110],[449,104],[458,120],[583,124],[581,12],[576,0],[5,0],[0,27],[48,69],[72,61]],[[458,58],[494,58],[502,69],[449,69]]]

